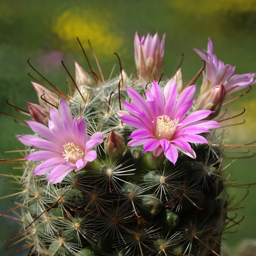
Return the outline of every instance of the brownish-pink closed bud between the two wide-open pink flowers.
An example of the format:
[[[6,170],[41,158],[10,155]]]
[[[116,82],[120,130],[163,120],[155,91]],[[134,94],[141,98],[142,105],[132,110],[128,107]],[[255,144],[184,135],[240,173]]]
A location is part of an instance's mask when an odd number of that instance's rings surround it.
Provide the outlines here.
[[[104,142],[104,149],[111,157],[119,157],[125,150],[125,140],[121,134],[112,130]]]

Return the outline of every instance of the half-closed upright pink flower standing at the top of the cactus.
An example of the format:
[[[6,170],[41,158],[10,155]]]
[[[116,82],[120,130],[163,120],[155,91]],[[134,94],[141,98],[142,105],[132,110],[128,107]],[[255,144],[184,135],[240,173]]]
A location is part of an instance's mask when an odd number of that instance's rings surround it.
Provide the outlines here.
[[[157,71],[163,60],[165,34],[160,43],[158,34],[148,34],[142,37],[136,32],[134,38],[134,55],[137,75],[146,82],[152,81],[157,76]]]

